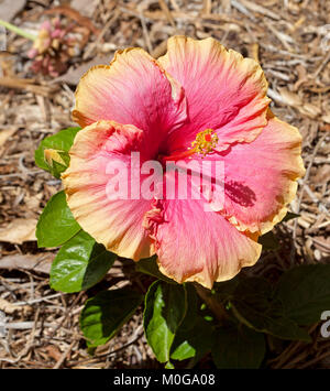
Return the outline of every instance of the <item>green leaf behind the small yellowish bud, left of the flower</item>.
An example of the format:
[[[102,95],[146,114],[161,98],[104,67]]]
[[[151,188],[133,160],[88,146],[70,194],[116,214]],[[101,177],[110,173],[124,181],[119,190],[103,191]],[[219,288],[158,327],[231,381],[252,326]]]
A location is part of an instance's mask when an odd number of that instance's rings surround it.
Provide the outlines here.
[[[69,163],[68,151],[72,148],[77,132],[81,128],[67,128],[61,130],[58,133],[45,138],[38,145],[35,151],[34,159],[37,166],[41,169],[51,172],[55,177],[59,178],[61,173],[66,170],[66,166]],[[45,160],[45,150],[56,150],[64,165],[53,161],[53,164],[50,165]]]

